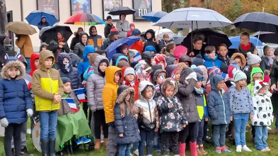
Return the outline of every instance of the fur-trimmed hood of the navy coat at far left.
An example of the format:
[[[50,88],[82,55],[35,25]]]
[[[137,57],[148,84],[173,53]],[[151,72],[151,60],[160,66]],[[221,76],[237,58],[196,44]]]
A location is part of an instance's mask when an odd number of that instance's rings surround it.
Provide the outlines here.
[[[17,77],[15,78],[16,80],[24,77],[25,66],[21,61],[10,61],[6,65],[4,65],[1,71],[1,77],[4,79],[11,80],[11,78],[9,77],[9,71],[11,68],[16,68],[19,71],[19,73],[17,73]]]

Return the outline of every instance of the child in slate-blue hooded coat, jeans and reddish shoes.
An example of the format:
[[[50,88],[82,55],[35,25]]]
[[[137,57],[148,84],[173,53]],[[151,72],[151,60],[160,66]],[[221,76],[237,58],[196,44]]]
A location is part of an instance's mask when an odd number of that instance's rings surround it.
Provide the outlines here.
[[[244,73],[243,73],[244,74]],[[210,78],[212,92],[209,94],[208,111],[213,125],[216,153],[231,153],[225,146],[226,126],[233,120],[227,93],[224,91],[224,78],[216,74]]]

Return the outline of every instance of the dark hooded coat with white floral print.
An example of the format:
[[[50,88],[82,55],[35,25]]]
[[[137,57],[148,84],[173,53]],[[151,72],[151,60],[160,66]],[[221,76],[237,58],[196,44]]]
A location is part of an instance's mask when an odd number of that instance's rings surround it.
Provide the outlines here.
[[[165,96],[166,84],[174,83],[174,94],[172,97]],[[161,85],[162,94],[157,100],[160,115],[160,132],[179,132],[183,125],[188,124],[183,106],[176,96],[178,84],[173,78],[167,78]]]

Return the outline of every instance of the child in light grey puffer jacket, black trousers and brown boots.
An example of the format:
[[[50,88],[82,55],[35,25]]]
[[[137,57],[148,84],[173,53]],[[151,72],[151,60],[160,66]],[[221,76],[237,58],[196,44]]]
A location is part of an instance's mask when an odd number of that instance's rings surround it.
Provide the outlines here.
[[[91,58],[91,56],[90,56]],[[94,73],[88,78],[87,97],[90,110],[94,116],[94,149],[100,148],[101,125],[103,128],[104,145],[107,146],[108,125],[105,123],[103,110],[102,91],[105,85],[105,70],[108,67],[108,59],[105,56],[98,55],[94,59]]]

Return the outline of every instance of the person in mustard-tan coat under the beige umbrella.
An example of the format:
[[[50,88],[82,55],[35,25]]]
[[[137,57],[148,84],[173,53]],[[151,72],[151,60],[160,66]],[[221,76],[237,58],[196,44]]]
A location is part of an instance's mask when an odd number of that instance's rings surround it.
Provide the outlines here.
[[[23,55],[27,61],[27,70],[30,70],[30,58],[31,54],[34,53],[31,38],[29,35],[19,34],[16,34],[15,37],[17,37],[15,44],[20,49],[20,54]]]

